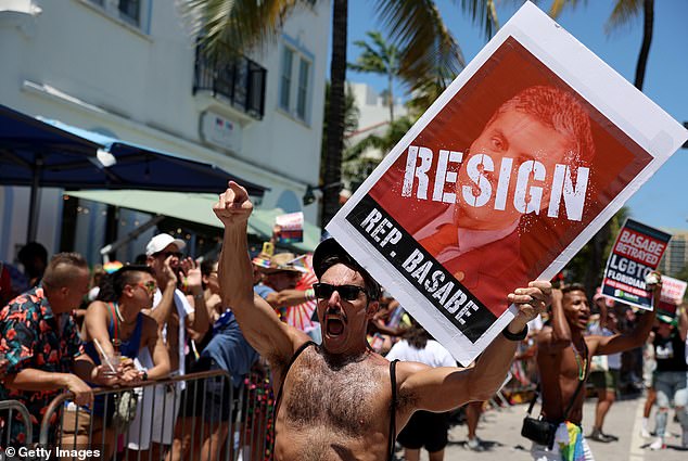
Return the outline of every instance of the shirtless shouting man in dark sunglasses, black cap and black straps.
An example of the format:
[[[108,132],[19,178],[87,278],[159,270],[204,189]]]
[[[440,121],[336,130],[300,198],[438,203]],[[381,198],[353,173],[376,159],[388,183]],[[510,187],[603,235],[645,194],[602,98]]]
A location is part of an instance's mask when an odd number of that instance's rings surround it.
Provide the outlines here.
[[[270,363],[276,400],[275,459],[392,459],[394,439],[416,410],[448,411],[486,400],[504,382],[526,323],[551,299],[549,282],[509,294],[519,311],[471,369],[391,364],[366,341],[380,286],[334,241],[314,254],[322,345],[279,321],[252,290],[246,223],[253,204],[234,182],[213,207],[225,225],[220,292],[251,345]]]

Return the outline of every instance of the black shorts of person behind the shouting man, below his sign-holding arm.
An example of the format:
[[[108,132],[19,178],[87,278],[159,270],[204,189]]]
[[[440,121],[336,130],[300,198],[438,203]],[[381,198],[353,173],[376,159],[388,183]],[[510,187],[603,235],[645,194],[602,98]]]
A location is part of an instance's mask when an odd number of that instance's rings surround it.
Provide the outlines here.
[[[424,447],[432,453],[447,446],[448,431],[449,415],[447,413],[417,411],[396,440],[404,448],[417,450]]]

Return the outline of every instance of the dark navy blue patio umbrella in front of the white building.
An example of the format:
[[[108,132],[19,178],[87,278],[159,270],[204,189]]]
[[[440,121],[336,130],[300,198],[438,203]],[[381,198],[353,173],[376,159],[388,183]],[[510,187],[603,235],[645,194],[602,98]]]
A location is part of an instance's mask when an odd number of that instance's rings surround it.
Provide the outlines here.
[[[230,179],[254,196],[266,191],[211,164],[0,105],[0,185],[31,188],[27,241],[36,236],[38,188],[219,193]]]

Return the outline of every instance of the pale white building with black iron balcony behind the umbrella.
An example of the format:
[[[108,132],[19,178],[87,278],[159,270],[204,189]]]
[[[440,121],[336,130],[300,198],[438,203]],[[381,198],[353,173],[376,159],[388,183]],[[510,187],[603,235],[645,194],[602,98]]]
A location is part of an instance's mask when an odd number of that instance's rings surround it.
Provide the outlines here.
[[[329,1],[314,2],[277,42],[216,68],[171,0],[0,0],[0,104],[215,164],[270,188],[260,207],[298,212],[318,183],[330,17]],[[37,240],[51,254],[62,202],[42,191]],[[25,243],[27,203],[28,188],[0,188],[0,260]],[[303,212],[315,222],[316,205]],[[75,249],[92,261],[106,242],[91,220]]]

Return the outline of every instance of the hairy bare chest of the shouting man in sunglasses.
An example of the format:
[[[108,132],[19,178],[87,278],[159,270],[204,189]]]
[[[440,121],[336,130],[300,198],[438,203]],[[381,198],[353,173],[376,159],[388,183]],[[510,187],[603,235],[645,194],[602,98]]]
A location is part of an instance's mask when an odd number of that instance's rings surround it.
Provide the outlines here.
[[[390,374],[370,360],[331,368],[315,350],[307,350],[285,384],[282,411],[289,425],[327,425],[357,437],[370,433],[380,421],[388,422]]]

